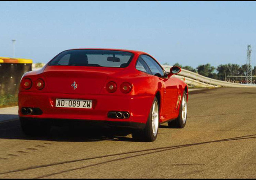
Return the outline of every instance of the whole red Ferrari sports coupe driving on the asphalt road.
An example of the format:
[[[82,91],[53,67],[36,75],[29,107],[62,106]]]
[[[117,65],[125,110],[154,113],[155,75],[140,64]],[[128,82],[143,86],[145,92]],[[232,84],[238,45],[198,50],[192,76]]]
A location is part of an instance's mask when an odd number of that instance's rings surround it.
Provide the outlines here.
[[[134,139],[154,141],[159,124],[183,128],[188,86],[166,73],[147,53],[71,49],[41,70],[23,75],[19,116],[27,135],[48,132],[55,122],[89,121],[127,127]]]

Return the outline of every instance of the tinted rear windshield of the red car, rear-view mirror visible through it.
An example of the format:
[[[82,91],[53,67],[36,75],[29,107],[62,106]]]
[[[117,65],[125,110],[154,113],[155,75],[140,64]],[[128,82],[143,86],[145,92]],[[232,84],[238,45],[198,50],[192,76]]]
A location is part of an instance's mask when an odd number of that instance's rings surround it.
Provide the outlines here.
[[[130,64],[132,57],[132,53],[124,51],[76,49],[63,51],[49,65],[124,68]]]

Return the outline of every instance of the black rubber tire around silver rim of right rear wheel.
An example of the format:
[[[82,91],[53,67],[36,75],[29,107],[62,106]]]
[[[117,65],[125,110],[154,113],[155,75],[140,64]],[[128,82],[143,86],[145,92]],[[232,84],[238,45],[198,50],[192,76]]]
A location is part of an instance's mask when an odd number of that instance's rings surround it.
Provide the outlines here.
[[[152,111],[153,111],[153,105],[154,105],[155,102],[157,103],[157,107],[158,107],[158,128],[157,128],[157,131],[156,131],[156,135],[154,136],[153,127],[152,127]],[[146,124],[145,128],[140,129],[140,130],[134,130],[132,132],[132,138],[135,139],[135,140],[144,141],[144,142],[153,142],[153,141],[155,141],[156,138],[157,138],[158,130],[159,130],[159,118],[160,118],[160,116],[159,116],[159,104],[158,104],[157,98],[155,97],[154,101],[152,103],[149,115],[148,115],[148,121],[147,121],[147,124]]]

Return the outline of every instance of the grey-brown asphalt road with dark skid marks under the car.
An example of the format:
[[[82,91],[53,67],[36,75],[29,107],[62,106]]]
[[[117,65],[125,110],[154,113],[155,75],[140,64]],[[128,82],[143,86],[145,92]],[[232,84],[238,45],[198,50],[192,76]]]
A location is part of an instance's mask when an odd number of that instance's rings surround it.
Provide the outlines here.
[[[194,91],[187,126],[152,143],[65,127],[33,139],[2,122],[0,178],[256,178],[255,109],[254,88]]]

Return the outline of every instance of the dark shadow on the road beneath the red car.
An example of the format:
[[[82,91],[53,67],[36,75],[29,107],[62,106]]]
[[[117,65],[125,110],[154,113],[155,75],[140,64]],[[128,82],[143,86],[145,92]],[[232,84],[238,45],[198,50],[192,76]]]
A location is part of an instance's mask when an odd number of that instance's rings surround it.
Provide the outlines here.
[[[131,132],[120,128],[101,127],[73,127],[53,126],[47,136],[29,137],[26,136],[20,126],[18,119],[0,122],[0,139],[24,139],[24,140],[47,140],[62,142],[95,142],[95,141],[133,141],[131,137],[125,137]]]

